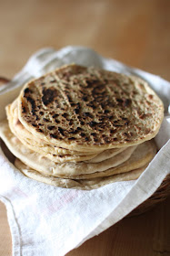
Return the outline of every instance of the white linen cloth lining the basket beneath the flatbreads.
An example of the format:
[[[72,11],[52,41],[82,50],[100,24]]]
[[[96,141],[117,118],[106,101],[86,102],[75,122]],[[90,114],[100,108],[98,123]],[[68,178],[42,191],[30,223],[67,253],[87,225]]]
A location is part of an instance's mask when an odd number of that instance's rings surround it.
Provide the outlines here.
[[[25,81],[63,64],[75,62],[147,80],[165,103],[165,119],[155,141],[161,150],[136,181],[116,182],[91,191],[53,187],[22,175],[0,150],[0,199],[7,208],[13,255],[62,256],[85,240],[123,219],[150,197],[170,172],[170,83],[94,50],[66,47],[36,52],[0,91],[0,120],[5,105],[15,99]]]

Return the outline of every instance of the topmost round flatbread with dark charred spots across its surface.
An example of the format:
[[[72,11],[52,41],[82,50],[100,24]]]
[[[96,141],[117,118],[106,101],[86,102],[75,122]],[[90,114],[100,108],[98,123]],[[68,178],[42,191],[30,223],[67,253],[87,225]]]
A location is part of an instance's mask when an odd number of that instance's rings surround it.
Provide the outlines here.
[[[94,152],[155,137],[164,107],[144,80],[73,64],[28,82],[18,115],[49,144]]]

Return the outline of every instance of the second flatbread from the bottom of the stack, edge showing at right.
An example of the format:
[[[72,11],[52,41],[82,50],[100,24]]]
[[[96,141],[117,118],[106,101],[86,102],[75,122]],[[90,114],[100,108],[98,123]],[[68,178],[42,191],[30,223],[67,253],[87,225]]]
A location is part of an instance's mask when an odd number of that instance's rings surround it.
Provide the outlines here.
[[[156,146],[155,143],[153,141],[147,141],[143,144],[140,144],[136,147],[135,151],[133,152],[133,154],[124,162],[121,161],[119,162],[119,165],[115,165],[113,167],[108,168],[109,164],[111,164],[111,162],[107,163],[107,161],[103,161],[102,162],[102,166],[98,165],[99,168],[96,172],[93,173],[85,173],[85,174],[79,174],[80,173],[80,167],[81,165],[76,165],[76,168],[74,170],[75,175],[68,175],[68,174],[61,174],[61,171],[59,170],[59,168],[54,168],[53,169],[53,175],[51,175],[48,172],[46,172],[45,168],[42,168],[42,165],[34,165],[33,163],[28,163],[28,165],[30,167],[32,167],[33,169],[35,169],[37,172],[42,173],[43,175],[50,175],[50,176],[57,176],[57,177],[61,177],[61,178],[69,178],[69,179],[92,179],[92,178],[97,178],[97,177],[105,177],[105,176],[113,176],[116,174],[122,174],[122,173],[127,173],[130,172],[134,169],[140,168],[146,164],[148,164],[149,162],[151,162],[151,160],[155,157],[156,154]],[[124,157],[123,154],[117,155],[116,157],[120,157],[120,158],[113,158],[114,162],[115,160],[121,160],[122,157]],[[99,163],[100,164],[100,163]],[[83,163],[84,165],[84,163]],[[83,166],[82,165],[82,166]],[[106,167],[106,166],[107,167]],[[85,165],[84,165],[85,166]],[[87,166],[87,165],[86,165]],[[86,167],[85,166],[85,167]],[[95,168],[97,165],[88,165],[90,168]],[[57,166],[59,167],[59,166]],[[65,167],[65,166],[64,166]],[[77,168],[78,167],[78,168]],[[102,171],[102,167],[104,167],[104,170]],[[65,168],[64,168],[65,169]],[[68,173],[68,172],[65,172]],[[72,170],[73,173],[73,170]]]

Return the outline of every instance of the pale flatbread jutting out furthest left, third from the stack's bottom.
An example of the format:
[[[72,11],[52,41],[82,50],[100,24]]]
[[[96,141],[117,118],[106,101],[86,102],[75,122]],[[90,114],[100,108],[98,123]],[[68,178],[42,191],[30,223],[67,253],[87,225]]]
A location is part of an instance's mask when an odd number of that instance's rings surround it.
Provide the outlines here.
[[[25,145],[11,133],[7,121],[2,122],[0,125],[0,136],[13,155],[19,158],[25,165],[50,176],[79,176],[81,174],[103,172],[108,168],[124,163],[133,154],[136,148],[136,146],[128,147],[122,153],[100,163],[67,162],[58,164],[25,147]]]

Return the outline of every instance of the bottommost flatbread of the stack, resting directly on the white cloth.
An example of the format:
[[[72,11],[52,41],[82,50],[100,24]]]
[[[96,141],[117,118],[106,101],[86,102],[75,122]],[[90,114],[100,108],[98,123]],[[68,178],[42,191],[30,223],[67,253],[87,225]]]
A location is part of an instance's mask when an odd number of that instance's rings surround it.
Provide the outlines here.
[[[84,180],[74,180],[67,178],[60,178],[54,176],[45,176],[41,173],[38,173],[34,169],[22,163],[19,159],[15,159],[15,166],[20,170],[25,176],[35,179],[36,181],[43,182],[48,185],[55,187],[65,187],[65,188],[74,188],[82,190],[96,189],[103,187],[110,183],[128,181],[137,179],[144,171],[147,165],[144,165],[138,169],[132,170],[125,174],[118,174],[114,176],[98,177],[93,179],[84,179]]]

